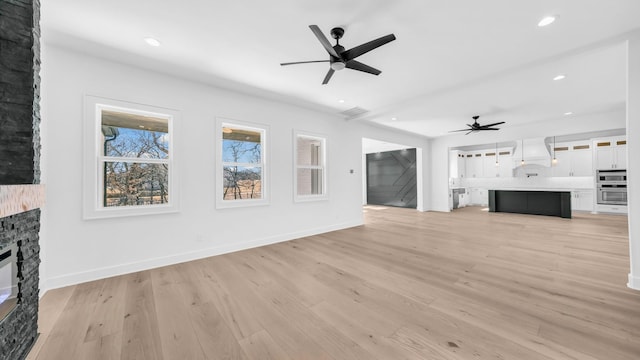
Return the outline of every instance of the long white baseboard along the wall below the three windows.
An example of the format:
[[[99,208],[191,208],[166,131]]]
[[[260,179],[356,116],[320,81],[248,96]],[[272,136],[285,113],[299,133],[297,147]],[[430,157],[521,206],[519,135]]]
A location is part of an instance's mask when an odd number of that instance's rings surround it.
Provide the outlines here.
[[[215,246],[212,248],[186,252],[182,254],[175,254],[170,256],[158,257],[153,259],[147,259],[134,263],[118,264],[114,266],[107,266],[102,268],[93,269],[90,271],[78,272],[73,274],[66,274],[46,279],[40,279],[40,297],[48,290],[53,290],[65,286],[76,285],[83,282],[104,279],[112,276],[129,274],[137,271],[149,270],[157,267],[178,264],[186,261],[192,261],[202,259],[215,255],[227,254],[235,251],[241,251],[251,249],[255,247],[275,244],[279,242],[294,240],[303,238],[306,236],[323,234],[331,231],[347,229],[355,226],[363,225],[362,220],[345,222],[340,224],[334,224],[323,228],[308,229],[304,231],[298,231],[288,234],[279,234],[269,236],[260,239],[254,239],[245,241],[242,243]]]

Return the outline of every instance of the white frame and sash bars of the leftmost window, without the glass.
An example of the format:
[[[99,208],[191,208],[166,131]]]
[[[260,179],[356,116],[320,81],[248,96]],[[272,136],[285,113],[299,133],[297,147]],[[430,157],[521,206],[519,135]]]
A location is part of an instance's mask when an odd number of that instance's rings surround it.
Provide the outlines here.
[[[167,159],[143,159],[107,157],[102,155],[102,110],[114,110],[137,115],[166,118],[169,129],[169,156]],[[83,99],[83,218],[102,219],[124,216],[154,215],[180,211],[179,178],[176,169],[176,133],[180,123],[180,112],[152,105],[137,104],[122,100],[85,95]],[[168,165],[169,202],[156,205],[104,207],[104,175],[102,164],[107,161],[141,163],[163,163]]]

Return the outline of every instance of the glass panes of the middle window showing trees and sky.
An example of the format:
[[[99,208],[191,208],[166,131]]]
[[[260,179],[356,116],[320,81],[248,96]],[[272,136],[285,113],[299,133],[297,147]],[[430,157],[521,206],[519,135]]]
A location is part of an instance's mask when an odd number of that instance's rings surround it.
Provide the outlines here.
[[[223,199],[262,199],[263,133],[261,130],[223,126]]]

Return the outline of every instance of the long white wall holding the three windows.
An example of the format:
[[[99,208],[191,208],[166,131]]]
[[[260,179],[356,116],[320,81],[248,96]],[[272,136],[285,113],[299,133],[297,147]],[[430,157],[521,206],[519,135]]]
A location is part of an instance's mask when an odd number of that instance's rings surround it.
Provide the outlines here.
[[[363,136],[424,146],[404,133],[185,81],[44,44],[41,289],[235,251],[362,223]],[[177,109],[182,210],[82,219],[83,95]],[[271,203],[216,210],[216,117],[270,126]],[[294,129],[325,134],[329,200],[293,202]],[[350,169],[354,173],[350,173]]]

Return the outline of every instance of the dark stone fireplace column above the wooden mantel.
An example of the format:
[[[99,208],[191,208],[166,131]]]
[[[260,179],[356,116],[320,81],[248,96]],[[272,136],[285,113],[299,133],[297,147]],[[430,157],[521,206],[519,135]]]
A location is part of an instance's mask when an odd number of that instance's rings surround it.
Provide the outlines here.
[[[40,182],[40,2],[0,1],[0,184]]]

